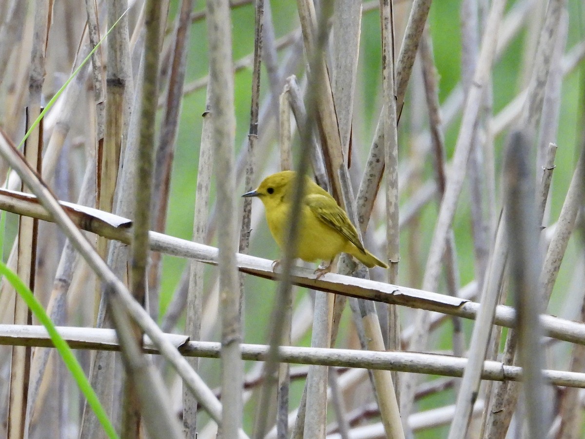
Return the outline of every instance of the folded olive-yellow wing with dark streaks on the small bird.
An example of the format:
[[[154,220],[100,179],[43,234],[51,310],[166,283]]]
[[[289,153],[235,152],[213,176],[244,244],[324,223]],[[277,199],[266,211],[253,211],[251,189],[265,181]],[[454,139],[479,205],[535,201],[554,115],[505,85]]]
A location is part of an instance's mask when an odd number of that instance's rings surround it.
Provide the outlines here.
[[[356,228],[353,227],[352,222],[347,218],[345,211],[339,207],[331,196],[310,194],[305,197],[305,203],[319,221],[324,222],[333,230],[349,239],[360,252],[366,253],[364,246],[357,236]]]

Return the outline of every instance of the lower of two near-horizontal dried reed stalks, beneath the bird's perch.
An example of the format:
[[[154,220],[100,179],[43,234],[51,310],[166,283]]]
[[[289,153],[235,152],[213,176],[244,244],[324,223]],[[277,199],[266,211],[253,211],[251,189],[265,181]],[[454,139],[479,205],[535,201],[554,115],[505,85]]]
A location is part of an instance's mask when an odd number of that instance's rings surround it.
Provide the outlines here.
[[[74,349],[105,349],[119,351],[121,345],[114,330],[107,328],[58,327],[68,344]],[[181,350],[188,357],[220,358],[221,344],[218,342],[188,341],[185,335],[163,334],[169,344]],[[18,346],[52,347],[53,344],[44,327],[38,325],[0,325],[0,344]],[[269,355],[268,345],[242,344],[242,358],[249,361],[265,361]],[[159,345],[150,337],[144,337],[144,351],[161,354]],[[327,365],[343,368],[371,368],[414,373],[428,373],[460,377],[469,361],[452,355],[422,354],[404,351],[362,351],[356,349],[310,348],[283,346],[279,349],[280,361],[307,365]],[[363,371],[356,369],[363,375]],[[304,373],[307,373],[305,371]],[[543,371],[546,380],[555,386],[585,388],[585,373],[548,370]],[[498,361],[485,361],[482,379],[497,381],[522,380],[522,368],[507,366]],[[355,379],[353,377],[352,379]],[[439,390],[446,383],[439,385]],[[342,387],[346,384],[341,383]],[[419,389],[424,396],[427,390]],[[215,397],[215,396],[214,396]]]

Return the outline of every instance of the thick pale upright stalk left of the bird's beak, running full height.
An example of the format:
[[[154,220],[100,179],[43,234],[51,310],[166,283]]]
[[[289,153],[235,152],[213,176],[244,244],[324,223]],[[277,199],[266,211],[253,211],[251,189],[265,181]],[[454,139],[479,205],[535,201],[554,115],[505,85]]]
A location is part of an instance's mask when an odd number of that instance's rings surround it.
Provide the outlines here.
[[[240,360],[242,328],[240,288],[236,269],[237,230],[233,107],[232,39],[227,0],[207,1],[209,79],[211,94],[214,171],[218,214],[222,218],[219,246],[219,294],[222,301],[223,437],[238,435],[242,424],[243,364]]]

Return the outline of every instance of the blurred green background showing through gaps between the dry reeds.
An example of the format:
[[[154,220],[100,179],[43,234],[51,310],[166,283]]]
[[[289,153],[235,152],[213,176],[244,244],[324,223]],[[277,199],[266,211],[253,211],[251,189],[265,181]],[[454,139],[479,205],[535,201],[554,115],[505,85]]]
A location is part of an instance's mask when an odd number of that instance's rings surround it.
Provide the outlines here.
[[[204,7],[202,2],[197,2],[197,10]],[[176,13],[177,2],[173,1],[173,15]],[[508,9],[513,4],[510,2]],[[402,11],[404,4],[398,4],[397,9]],[[440,99],[441,101],[449,95],[460,78],[460,2],[455,0],[441,0],[433,2],[429,15],[429,26],[433,38],[433,48],[435,53],[436,67],[440,75]],[[296,2],[277,1],[271,2],[273,13],[274,28],[276,36],[280,37],[298,27],[298,14]],[[577,0],[569,1],[570,10],[570,28],[567,40],[567,50],[573,44],[579,42],[582,38],[581,31],[581,2]],[[402,16],[405,17],[402,12]],[[246,5],[232,11],[233,23],[233,57],[235,60],[240,59],[252,53],[254,37],[254,10],[253,5]],[[401,26],[397,26],[400,28]],[[493,77],[493,102],[494,113],[500,111],[504,106],[514,98],[520,90],[519,75],[521,74],[522,52],[524,50],[525,30],[522,30],[503,54],[501,59],[494,67]],[[191,44],[188,53],[188,70],[187,83],[207,74],[208,56],[207,56],[207,29],[204,21],[195,22],[191,29]],[[279,54],[282,58],[282,54]],[[302,74],[302,71],[298,72]],[[261,95],[265,96],[269,92],[266,80],[266,71],[262,71],[263,81]],[[245,145],[247,130],[249,126],[250,115],[250,90],[251,90],[251,69],[240,71],[235,77],[235,105],[236,105],[236,154],[242,145]],[[300,76],[300,75],[299,75]],[[576,144],[580,142],[581,126],[580,105],[582,90],[580,87],[580,72],[569,74],[565,78],[562,88],[562,107],[560,109],[560,124],[556,143],[558,144],[558,153],[556,156],[556,169],[553,174],[552,185],[552,208],[550,218],[554,221],[559,214],[565,198],[567,186],[572,177],[574,163],[576,161]],[[409,132],[411,126],[409,120],[408,101],[411,99],[409,92],[406,97],[406,107],[402,114],[400,126],[400,155],[401,157],[409,156],[409,148],[413,140],[413,133]],[[370,148],[371,139],[374,129],[376,128],[377,118],[380,112],[381,103],[381,61],[380,61],[380,17],[377,9],[366,12],[363,15],[362,22],[362,39],[360,52],[360,65],[356,87],[356,107],[354,109],[355,121],[353,133],[355,136],[353,148],[358,148],[357,155],[362,157],[363,166],[365,157]],[[197,167],[199,156],[199,139],[201,136],[201,114],[205,109],[205,88],[187,95],[183,101],[183,111],[180,119],[180,130],[178,134],[178,143],[176,150],[176,159],[174,160],[171,200],[169,205],[167,233],[180,238],[191,239],[193,206],[195,197],[195,187],[197,181]],[[426,114],[424,115],[426,124]],[[455,146],[458,132],[458,121],[452,124],[446,132],[447,154],[450,157]],[[263,126],[259,126],[260,135],[263,133]],[[501,168],[501,149],[504,136],[496,139],[496,178],[499,188],[500,168]],[[276,142],[273,140],[274,146]],[[274,155],[277,154],[274,149]],[[432,160],[428,160],[432,163]],[[356,165],[357,166],[357,165]],[[263,175],[257,175],[259,182]],[[425,177],[432,177],[431,165],[425,167]],[[243,188],[239,191],[243,193]],[[213,194],[212,194],[213,197]],[[213,199],[213,198],[212,198]],[[474,259],[473,243],[469,216],[469,191],[464,188],[459,208],[456,214],[454,228],[456,236],[456,246],[459,262],[459,270],[462,285],[470,282],[474,277]],[[498,200],[501,200],[498,191]],[[402,200],[404,201],[404,200]],[[241,205],[241,204],[240,204]],[[253,210],[261,210],[260,203],[253,204]],[[400,283],[412,287],[420,287],[420,284],[413,284],[412,276],[409,275],[409,266],[414,263],[422,265],[426,261],[428,252],[428,243],[431,239],[433,227],[438,211],[438,203],[432,201],[421,214],[419,236],[421,242],[420,254],[417,261],[409,261],[406,256],[402,256],[400,268]],[[276,244],[271,240],[267,232],[264,221],[260,222],[260,229],[253,235],[253,241],[250,253],[263,258],[276,258],[278,249]],[[408,246],[408,231],[402,232],[401,245],[402,249]],[[574,239],[573,239],[574,241]],[[211,243],[212,245],[214,242]],[[553,293],[552,302],[549,312],[553,314],[562,314],[564,294],[569,286],[572,267],[576,258],[576,245],[571,243],[567,251],[566,260],[563,262],[561,273]],[[161,315],[164,314],[174,290],[177,287],[178,280],[181,277],[185,266],[185,260],[177,258],[164,257],[163,276],[161,288]],[[208,272],[211,279],[211,269]],[[420,280],[419,280],[420,282]],[[276,285],[261,279],[249,278],[246,280],[245,290],[245,342],[266,343],[267,327],[269,314],[272,306],[272,296]],[[444,292],[444,291],[439,291]],[[306,294],[305,291],[298,291],[298,297]],[[406,312],[406,311],[401,311]],[[345,315],[345,322],[349,322],[349,313]],[[338,346],[343,347],[344,334],[339,338]],[[216,325],[217,327],[217,325]],[[465,323],[467,340],[472,325]],[[434,346],[438,349],[451,348],[451,327],[450,324],[444,324],[438,333],[433,335]],[[436,337],[436,338],[434,338]],[[215,331],[214,339],[218,339]],[[309,345],[310,335],[304,338],[303,345]],[[569,352],[568,350],[563,352]],[[568,359],[568,356],[567,356]],[[209,377],[216,373],[216,360],[204,360],[204,374]],[[566,367],[566,364],[564,365]],[[246,365],[249,369],[250,365]],[[432,379],[433,377],[424,377]],[[211,379],[211,385],[217,384]],[[291,392],[291,404],[297,404],[300,395],[302,383],[295,383]],[[439,393],[433,397],[422,400],[418,404],[419,410],[438,407],[445,404],[453,403],[455,396],[452,391],[448,390]],[[253,404],[246,406],[245,428],[247,431],[252,427]],[[435,429],[420,434],[417,437],[443,437],[446,430]]]

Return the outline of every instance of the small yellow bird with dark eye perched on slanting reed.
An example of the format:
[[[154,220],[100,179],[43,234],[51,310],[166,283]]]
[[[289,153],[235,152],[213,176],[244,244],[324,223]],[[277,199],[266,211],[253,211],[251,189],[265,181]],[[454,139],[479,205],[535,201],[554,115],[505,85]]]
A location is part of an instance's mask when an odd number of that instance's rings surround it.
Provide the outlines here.
[[[243,194],[242,197],[259,197],[266,209],[266,221],[280,248],[286,239],[288,215],[294,191],[294,171],[272,174],[260,183],[256,190]],[[366,267],[388,266],[364,249],[356,228],[339,207],[335,198],[319,187],[309,177],[305,177],[305,196],[301,201],[299,215],[301,224],[298,228],[298,245],[295,257],[307,262],[315,260],[329,261],[326,267],[315,270],[317,278],[331,271],[333,259],[339,253],[349,253]]]

